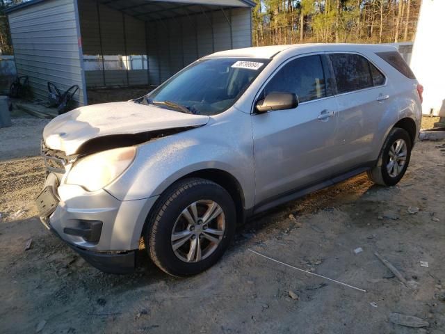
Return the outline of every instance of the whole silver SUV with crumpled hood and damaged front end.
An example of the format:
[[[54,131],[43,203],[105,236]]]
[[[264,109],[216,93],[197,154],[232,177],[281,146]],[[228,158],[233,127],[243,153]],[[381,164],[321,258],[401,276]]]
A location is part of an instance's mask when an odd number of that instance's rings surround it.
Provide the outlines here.
[[[145,246],[171,275],[200,273],[249,216],[365,171],[399,182],[422,89],[389,46],[206,56],[144,97],[45,127],[42,223],[102,271],[131,271]]]

